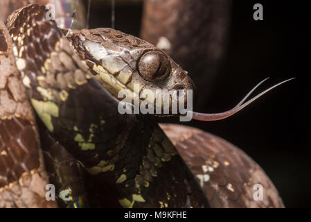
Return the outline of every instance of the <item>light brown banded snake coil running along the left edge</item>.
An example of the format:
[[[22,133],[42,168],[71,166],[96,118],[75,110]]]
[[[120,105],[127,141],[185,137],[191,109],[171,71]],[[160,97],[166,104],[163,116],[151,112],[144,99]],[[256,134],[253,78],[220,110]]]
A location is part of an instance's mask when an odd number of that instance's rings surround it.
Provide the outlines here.
[[[8,43],[7,53],[0,54],[0,207],[56,207],[45,197],[48,178],[35,116],[2,22],[0,31]]]

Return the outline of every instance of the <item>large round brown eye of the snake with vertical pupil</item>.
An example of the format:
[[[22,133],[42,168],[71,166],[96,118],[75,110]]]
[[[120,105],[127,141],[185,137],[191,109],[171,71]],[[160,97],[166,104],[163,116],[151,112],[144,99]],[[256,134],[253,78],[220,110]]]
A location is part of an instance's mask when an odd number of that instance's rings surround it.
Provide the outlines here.
[[[170,74],[170,61],[161,51],[147,51],[139,58],[137,70],[145,80],[159,83]]]

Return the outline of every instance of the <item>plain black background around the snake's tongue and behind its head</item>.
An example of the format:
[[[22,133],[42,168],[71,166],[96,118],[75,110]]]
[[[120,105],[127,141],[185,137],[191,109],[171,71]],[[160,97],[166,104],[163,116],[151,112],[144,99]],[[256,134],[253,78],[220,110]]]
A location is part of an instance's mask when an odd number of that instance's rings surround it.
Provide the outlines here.
[[[310,51],[306,36],[310,19],[305,2],[233,1],[229,44],[204,111],[229,110],[268,76],[270,80],[260,89],[296,79],[229,119],[187,123],[242,148],[272,179],[286,207],[311,206]],[[255,3],[263,4],[263,21],[253,19]],[[141,12],[141,3],[117,4],[115,28],[139,36]],[[92,5],[90,15],[90,28],[111,27],[109,4]],[[159,121],[179,123],[178,119]]]

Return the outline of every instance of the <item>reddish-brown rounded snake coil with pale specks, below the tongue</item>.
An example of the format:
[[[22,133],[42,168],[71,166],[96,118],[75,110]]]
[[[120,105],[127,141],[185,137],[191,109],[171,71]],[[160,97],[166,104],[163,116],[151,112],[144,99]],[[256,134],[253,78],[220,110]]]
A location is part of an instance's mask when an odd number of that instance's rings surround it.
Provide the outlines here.
[[[160,124],[200,182],[211,207],[284,207],[261,167],[240,148],[197,128]],[[254,185],[263,200],[254,200]]]

